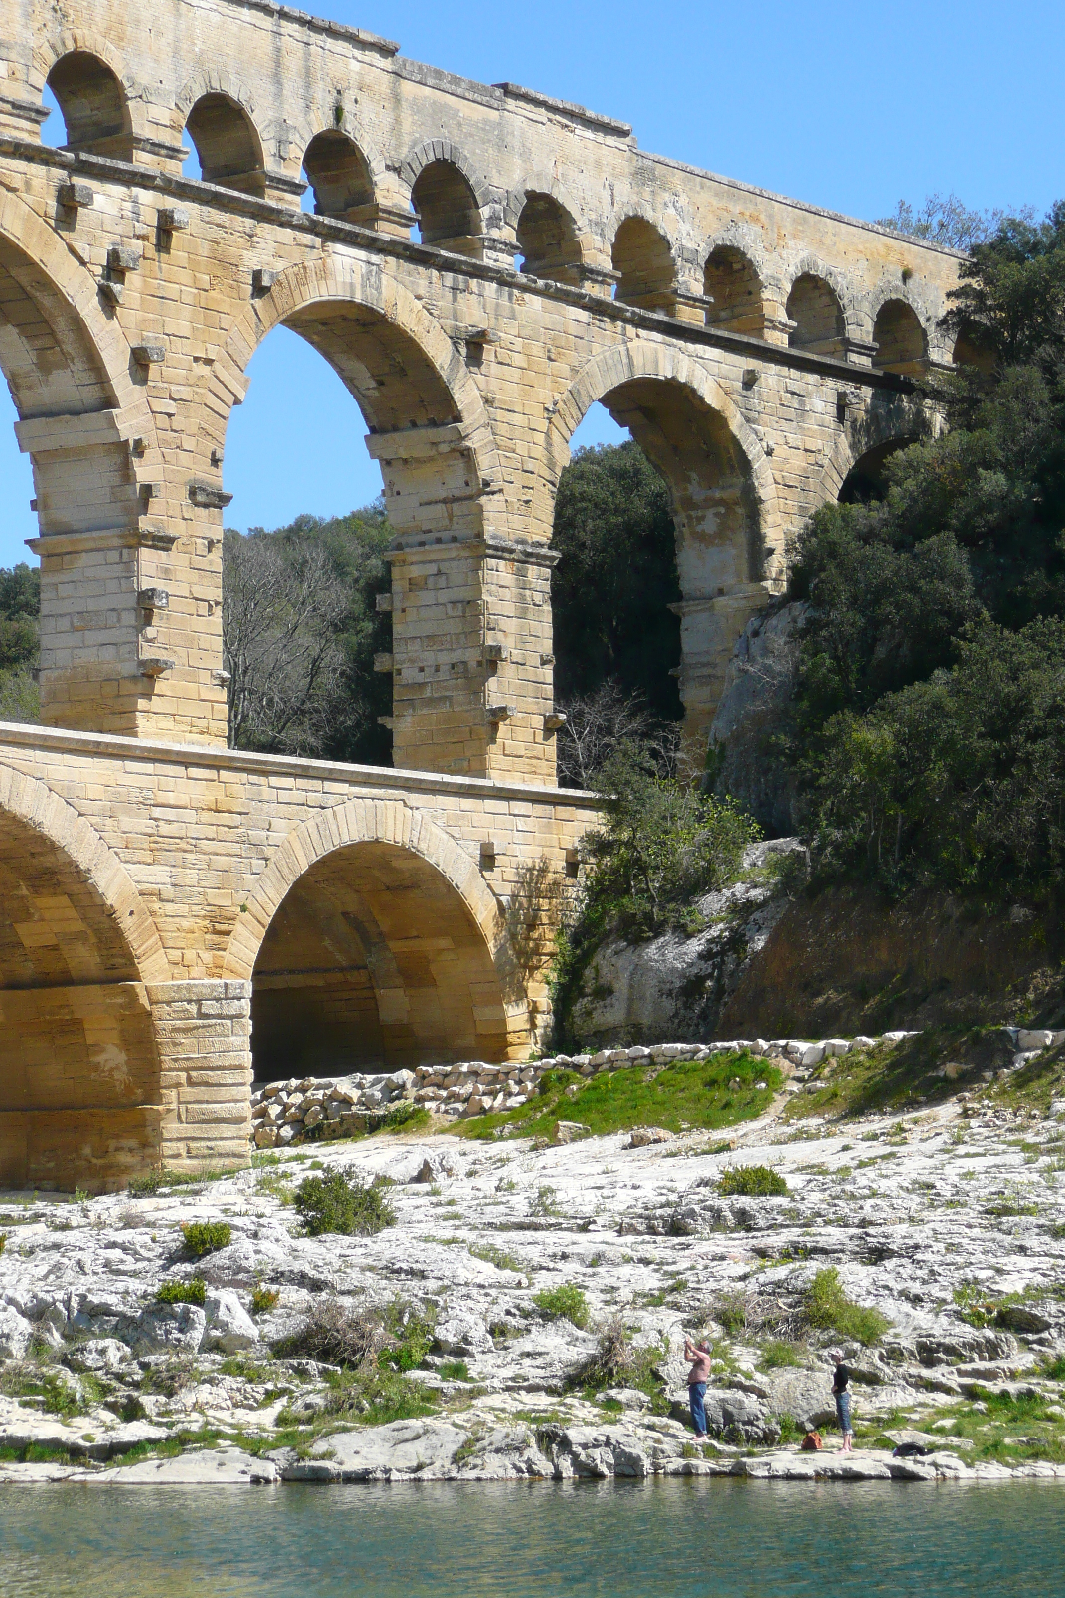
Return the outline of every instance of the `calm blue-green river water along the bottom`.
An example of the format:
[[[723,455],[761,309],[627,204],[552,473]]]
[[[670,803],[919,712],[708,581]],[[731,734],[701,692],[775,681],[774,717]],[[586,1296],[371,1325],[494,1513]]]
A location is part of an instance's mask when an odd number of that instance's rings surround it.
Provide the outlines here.
[[[1060,1598],[1059,1483],[0,1486],[3,1598]]]

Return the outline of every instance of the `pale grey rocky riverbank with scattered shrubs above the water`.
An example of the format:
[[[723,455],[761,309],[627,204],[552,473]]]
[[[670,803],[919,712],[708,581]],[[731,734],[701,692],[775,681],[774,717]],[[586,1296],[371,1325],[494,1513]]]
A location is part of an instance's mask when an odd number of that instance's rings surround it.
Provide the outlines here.
[[[200,1186],[6,1195],[0,1480],[1065,1477],[1065,1103],[995,1095],[827,1120],[781,1091],[728,1138],[378,1135]],[[736,1192],[749,1165],[786,1191]],[[375,1179],[394,1224],[305,1235],[292,1194],[332,1170]],[[190,1222],[230,1240],[192,1259]],[[323,1307],[378,1325],[385,1374],[299,1352]],[[805,1425],[822,1453],[798,1453]],[[928,1453],[894,1457],[907,1440]]]

